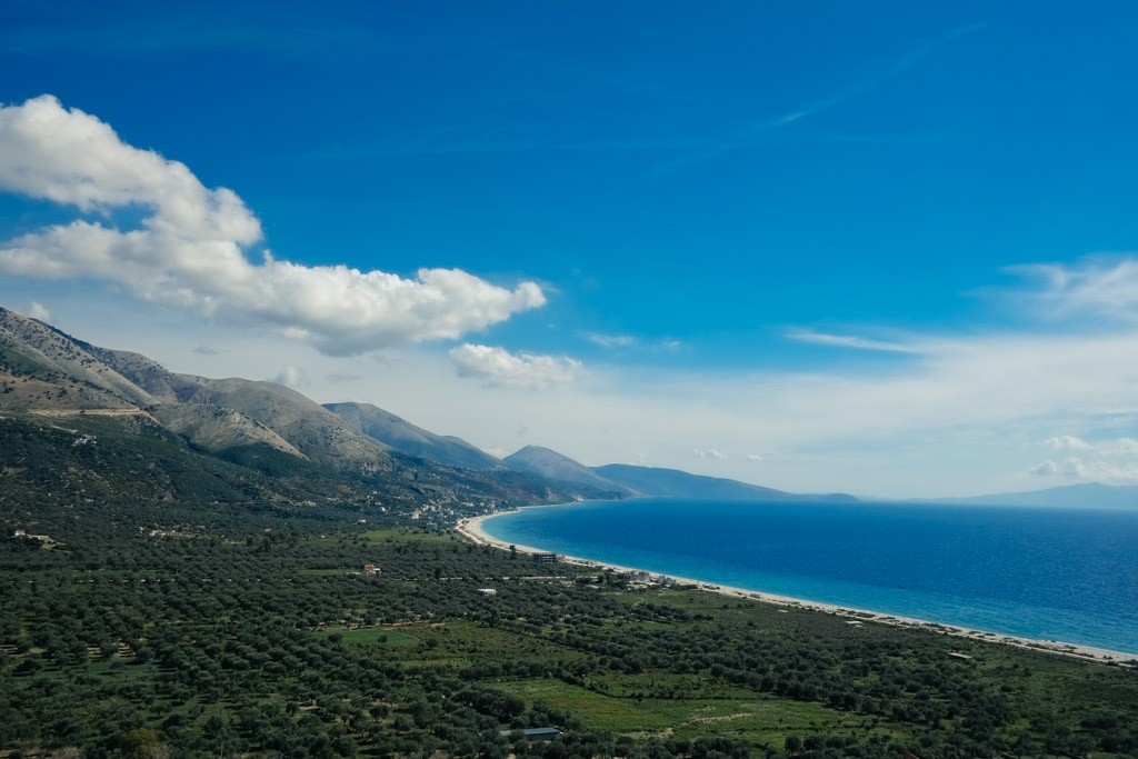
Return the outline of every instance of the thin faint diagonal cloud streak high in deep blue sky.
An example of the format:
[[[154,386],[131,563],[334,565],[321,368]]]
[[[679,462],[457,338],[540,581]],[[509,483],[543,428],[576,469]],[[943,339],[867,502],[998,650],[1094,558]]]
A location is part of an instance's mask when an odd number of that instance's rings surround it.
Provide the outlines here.
[[[832,92],[827,96],[818,98],[817,100],[813,100],[798,110],[792,110],[773,118],[753,123],[733,134],[725,137],[717,145],[665,162],[657,166],[655,171],[671,172],[677,168],[684,168],[686,166],[714,160],[731,152],[735,152],[736,150],[748,148],[754,142],[756,139],[766,132],[784,129],[805,118],[840,106],[860,94],[875,90],[906,69],[912,68],[914,65],[920,63],[921,59],[935,52],[938,49],[958,40],[962,36],[978,32],[984,28],[984,26],[987,26],[987,24],[967,24],[965,26],[957,27],[948,34],[913,48],[905,55],[891,61],[882,72],[874,76],[868,76],[850,84],[844,89]]]

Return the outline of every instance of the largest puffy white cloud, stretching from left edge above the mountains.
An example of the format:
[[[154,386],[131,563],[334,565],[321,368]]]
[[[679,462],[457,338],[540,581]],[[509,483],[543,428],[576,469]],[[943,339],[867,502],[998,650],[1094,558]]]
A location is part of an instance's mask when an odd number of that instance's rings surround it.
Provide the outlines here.
[[[545,304],[534,282],[498,287],[461,270],[414,278],[348,266],[261,261],[261,223],[225,188],[118,139],[106,123],[50,96],[0,107],[0,188],[76,207],[83,217],[0,244],[0,272],[91,278],[146,300],[267,325],[331,355],[457,339]],[[114,214],[143,209],[133,229]]]

